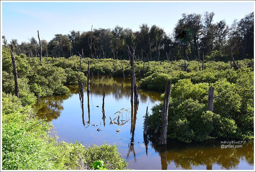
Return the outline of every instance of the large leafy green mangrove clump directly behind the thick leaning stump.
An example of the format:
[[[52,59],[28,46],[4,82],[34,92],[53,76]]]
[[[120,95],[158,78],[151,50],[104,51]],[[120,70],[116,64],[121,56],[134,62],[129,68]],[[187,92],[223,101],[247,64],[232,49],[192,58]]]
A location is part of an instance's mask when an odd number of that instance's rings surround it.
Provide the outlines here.
[[[213,84],[193,84],[190,79],[178,80],[176,84],[172,84],[168,108],[168,137],[184,142],[203,141],[211,137],[252,139],[253,80],[251,75],[245,75],[247,79],[239,78],[236,83],[230,83],[223,78]],[[207,111],[210,85],[214,87],[216,96],[213,112]],[[246,87],[249,89],[245,89]],[[246,101],[247,95],[250,97]],[[155,130],[157,122],[161,124],[162,110],[162,103],[152,108],[153,114],[148,117],[150,131]]]

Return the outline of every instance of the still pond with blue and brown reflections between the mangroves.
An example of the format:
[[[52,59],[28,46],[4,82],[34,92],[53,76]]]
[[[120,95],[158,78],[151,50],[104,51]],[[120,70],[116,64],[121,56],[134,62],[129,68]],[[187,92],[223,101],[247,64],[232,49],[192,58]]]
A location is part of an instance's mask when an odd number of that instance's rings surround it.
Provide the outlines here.
[[[143,116],[146,108],[148,106],[149,113],[152,113],[151,107],[161,101],[161,92],[138,89],[140,102],[131,104],[130,84],[130,78],[94,77],[90,83],[90,93],[86,92],[85,87],[84,106],[81,106],[78,86],[68,86],[69,95],[43,98],[35,107],[39,110],[39,118],[52,121],[61,140],[77,140],[87,146],[100,145],[105,141],[108,144],[116,143],[121,157],[129,162],[128,168],[131,169],[253,170],[253,142],[242,144],[241,148],[221,149],[221,141],[231,140],[186,144],[169,139],[166,147],[161,147],[156,137],[143,138]],[[102,119],[103,92],[105,119]],[[122,113],[119,124],[117,119],[116,124],[110,124],[109,116],[114,119],[118,114],[114,113],[122,108],[128,111]],[[92,126],[94,124],[98,126]],[[97,128],[101,131],[98,132]],[[117,129],[120,132],[116,132]],[[196,155],[197,152],[199,153]]]

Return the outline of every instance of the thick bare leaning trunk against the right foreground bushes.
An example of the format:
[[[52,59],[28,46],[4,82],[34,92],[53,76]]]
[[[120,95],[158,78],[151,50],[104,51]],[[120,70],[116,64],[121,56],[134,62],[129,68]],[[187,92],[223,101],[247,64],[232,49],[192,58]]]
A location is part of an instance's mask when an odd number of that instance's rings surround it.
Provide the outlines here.
[[[171,81],[169,80],[165,86],[165,99],[164,99],[163,113],[162,113],[162,128],[161,128],[161,136],[160,136],[160,142],[159,142],[159,144],[162,144],[162,145],[166,144],[170,91],[171,91]]]

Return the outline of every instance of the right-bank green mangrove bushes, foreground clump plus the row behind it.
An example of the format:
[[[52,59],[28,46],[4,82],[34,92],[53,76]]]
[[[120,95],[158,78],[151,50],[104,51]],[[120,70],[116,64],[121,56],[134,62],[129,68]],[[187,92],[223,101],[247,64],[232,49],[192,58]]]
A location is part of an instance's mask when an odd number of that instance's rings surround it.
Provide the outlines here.
[[[169,138],[184,142],[214,137],[253,139],[253,59],[241,60],[239,70],[225,69],[224,62],[205,63],[205,70],[154,73],[141,80],[141,86],[164,89],[171,80],[168,108]],[[214,70],[219,68],[219,70]],[[213,112],[207,111],[208,89],[214,87]],[[164,96],[164,95],[162,95]],[[162,103],[152,108],[148,127],[154,131],[162,122]],[[213,128],[211,125],[213,124]]]

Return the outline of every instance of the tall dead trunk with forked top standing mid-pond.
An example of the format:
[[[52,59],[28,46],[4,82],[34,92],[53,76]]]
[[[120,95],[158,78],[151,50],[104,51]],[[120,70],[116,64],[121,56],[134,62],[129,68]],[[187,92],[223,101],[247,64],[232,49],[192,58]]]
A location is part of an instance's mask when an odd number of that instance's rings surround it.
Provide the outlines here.
[[[137,85],[136,85],[136,77],[135,77],[135,72],[134,72],[134,53],[135,53],[135,49],[136,49],[136,43],[134,44],[132,48],[132,53],[130,51],[130,48],[128,45],[126,45],[128,48],[128,53],[130,55],[130,65],[131,65],[131,82],[133,84],[133,92],[134,92],[134,103],[138,103],[138,93],[137,93]],[[131,90],[132,91],[132,90]],[[131,97],[131,101],[132,101],[132,97]]]

